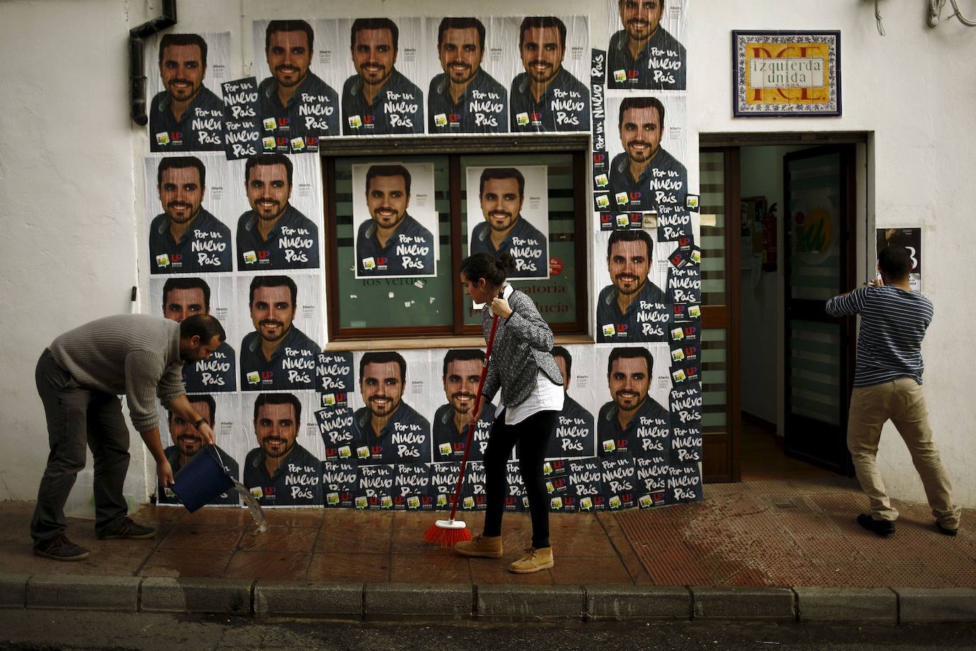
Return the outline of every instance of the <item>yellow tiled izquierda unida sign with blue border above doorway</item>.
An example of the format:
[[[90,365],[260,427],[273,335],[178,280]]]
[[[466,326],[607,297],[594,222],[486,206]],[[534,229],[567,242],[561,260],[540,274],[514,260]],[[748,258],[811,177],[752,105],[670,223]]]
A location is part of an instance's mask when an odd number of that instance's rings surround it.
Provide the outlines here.
[[[735,117],[839,116],[839,31],[732,31]]]

